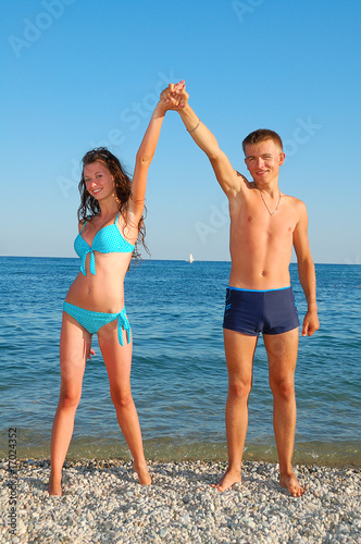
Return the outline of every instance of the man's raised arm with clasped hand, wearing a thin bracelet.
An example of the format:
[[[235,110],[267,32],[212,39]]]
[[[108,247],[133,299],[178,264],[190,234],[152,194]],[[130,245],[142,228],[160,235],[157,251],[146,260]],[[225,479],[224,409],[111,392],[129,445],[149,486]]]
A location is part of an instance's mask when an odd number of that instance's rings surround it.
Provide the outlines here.
[[[174,109],[179,113],[188,133],[196,141],[197,146],[207,154],[211,161],[215,176],[227,196],[239,191],[242,176],[240,176],[232,166],[227,156],[221,150],[215,137],[200,121],[188,103],[189,95],[185,85],[170,84],[161,94],[161,99],[174,101]]]

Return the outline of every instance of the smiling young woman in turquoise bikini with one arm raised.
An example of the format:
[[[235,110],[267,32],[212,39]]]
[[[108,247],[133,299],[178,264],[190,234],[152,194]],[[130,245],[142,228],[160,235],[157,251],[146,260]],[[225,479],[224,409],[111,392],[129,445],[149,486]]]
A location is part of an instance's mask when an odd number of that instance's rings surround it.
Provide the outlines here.
[[[174,104],[172,104],[174,107]],[[60,337],[61,386],[51,438],[49,494],[61,495],[62,467],[82,396],[91,335],[107,367],[119,424],[134,457],[141,484],[150,484],[139,420],[130,392],[132,332],[124,307],[124,276],[137,240],[144,240],[147,174],[170,103],[160,101],[136,157],[133,182],[108,149],[83,159],[79,183],[79,234],[75,250],[80,271],[64,301]]]

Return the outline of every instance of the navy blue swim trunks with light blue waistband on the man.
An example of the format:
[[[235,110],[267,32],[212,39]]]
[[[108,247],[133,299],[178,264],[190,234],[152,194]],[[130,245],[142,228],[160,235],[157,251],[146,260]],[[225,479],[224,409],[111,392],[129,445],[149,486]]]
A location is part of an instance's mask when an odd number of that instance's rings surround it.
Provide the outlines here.
[[[270,290],[227,287],[223,329],[258,336],[286,333],[299,324],[291,287]]]

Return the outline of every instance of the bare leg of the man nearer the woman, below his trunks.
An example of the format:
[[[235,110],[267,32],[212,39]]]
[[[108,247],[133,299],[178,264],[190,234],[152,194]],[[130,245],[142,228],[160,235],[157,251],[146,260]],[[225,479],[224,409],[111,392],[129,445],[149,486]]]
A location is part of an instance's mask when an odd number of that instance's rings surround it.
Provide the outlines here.
[[[214,487],[229,489],[240,482],[242,453],[248,424],[248,397],[252,387],[252,363],[258,336],[224,329],[224,348],[228,369],[226,433],[228,470]]]

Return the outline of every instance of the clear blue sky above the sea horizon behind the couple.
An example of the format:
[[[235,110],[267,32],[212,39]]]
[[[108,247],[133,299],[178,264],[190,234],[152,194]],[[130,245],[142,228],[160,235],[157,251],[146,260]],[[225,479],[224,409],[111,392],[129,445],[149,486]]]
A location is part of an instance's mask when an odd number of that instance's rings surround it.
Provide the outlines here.
[[[83,154],[105,145],[132,172],[160,89],[183,78],[244,174],[242,138],[281,134],[314,261],[361,263],[359,0],[20,0],[0,15],[0,255],[74,257]],[[228,260],[225,196],[175,112],[147,207],[153,259]]]

